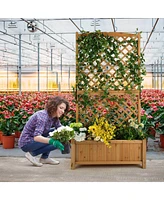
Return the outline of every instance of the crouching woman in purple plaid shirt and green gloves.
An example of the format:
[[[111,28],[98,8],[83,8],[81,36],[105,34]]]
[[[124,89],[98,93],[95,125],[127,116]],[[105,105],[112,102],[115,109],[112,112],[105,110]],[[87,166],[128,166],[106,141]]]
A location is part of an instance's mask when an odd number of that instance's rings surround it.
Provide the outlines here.
[[[61,125],[59,118],[67,113],[69,103],[66,99],[56,96],[48,100],[45,109],[34,113],[27,121],[18,141],[18,146],[24,152],[25,157],[35,166],[43,164],[57,165],[59,161],[49,158],[51,151],[55,149],[64,150],[64,146],[58,141],[49,138],[52,127]],[[41,154],[39,162],[35,156]]]

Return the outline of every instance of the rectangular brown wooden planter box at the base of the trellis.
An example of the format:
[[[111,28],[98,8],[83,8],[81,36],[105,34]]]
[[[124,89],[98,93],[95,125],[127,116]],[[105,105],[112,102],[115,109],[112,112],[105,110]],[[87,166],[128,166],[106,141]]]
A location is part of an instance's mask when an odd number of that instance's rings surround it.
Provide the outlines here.
[[[111,140],[111,148],[103,142],[71,141],[71,169],[76,165],[139,164],[146,168],[146,139]]]

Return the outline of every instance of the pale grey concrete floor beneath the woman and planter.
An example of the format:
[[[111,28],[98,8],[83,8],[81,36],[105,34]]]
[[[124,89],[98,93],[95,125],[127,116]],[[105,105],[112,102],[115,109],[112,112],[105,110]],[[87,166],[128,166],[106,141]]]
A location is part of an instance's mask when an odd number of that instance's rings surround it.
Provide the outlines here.
[[[77,166],[70,168],[70,154],[53,151],[59,165],[34,167],[15,147],[0,145],[0,182],[164,182],[164,149],[159,142],[149,140],[146,169],[138,165]]]

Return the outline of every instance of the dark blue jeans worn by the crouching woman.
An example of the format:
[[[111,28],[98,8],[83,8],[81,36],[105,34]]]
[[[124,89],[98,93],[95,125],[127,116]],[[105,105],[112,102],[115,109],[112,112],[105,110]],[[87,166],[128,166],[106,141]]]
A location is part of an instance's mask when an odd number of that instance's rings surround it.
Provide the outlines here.
[[[50,131],[52,131],[52,129],[50,129]],[[48,136],[48,134],[46,136]],[[32,141],[21,147],[21,149],[24,152],[30,152],[32,156],[37,156],[39,154],[42,154],[41,158],[46,159],[48,158],[50,152],[57,148],[51,144]]]

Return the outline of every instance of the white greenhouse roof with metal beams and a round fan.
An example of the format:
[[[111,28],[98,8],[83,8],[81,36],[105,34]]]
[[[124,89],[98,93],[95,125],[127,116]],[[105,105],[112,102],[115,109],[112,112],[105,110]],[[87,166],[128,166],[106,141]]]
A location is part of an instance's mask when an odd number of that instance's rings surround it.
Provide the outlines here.
[[[0,66],[76,65],[76,32],[141,32],[145,65],[162,63],[164,18],[0,18]],[[38,54],[39,51],[39,54]]]

